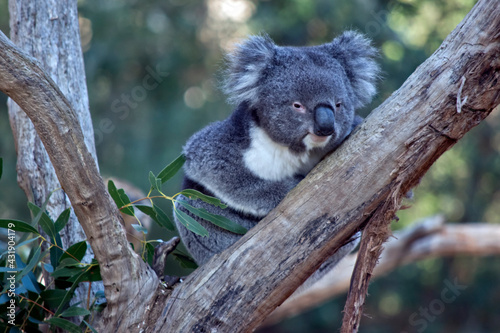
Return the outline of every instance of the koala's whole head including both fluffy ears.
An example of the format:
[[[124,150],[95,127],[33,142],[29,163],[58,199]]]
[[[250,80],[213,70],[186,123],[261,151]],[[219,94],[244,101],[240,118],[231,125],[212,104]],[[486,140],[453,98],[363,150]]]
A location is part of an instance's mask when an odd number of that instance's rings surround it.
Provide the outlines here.
[[[247,103],[273,141],[303,152],[350,133],[355,109],[376,93],[375,55],[354,31],[307,47],[253,36],[228,55],[224,90],[229,102]]]

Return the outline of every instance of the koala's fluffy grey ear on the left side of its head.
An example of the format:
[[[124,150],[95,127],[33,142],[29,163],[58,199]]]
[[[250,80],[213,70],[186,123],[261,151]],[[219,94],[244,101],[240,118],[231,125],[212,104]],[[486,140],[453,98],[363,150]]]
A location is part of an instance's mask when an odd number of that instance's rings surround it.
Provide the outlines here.
[[[227,55],[222,88],[229,103],[252,104],[257,100],[259,78],[272,60],[275,49],[276,45],[269,36],[252,36]]]

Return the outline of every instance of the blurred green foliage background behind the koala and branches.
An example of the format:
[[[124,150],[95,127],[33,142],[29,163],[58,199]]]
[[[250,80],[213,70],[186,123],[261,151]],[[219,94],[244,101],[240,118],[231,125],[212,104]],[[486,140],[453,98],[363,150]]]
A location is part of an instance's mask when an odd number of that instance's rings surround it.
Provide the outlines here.
[[[79,0],[87,83],[102,174],[147,190],[147,174],[160,171],[196,130],[226,117],[219,92],[223,54],[248,34],[267,32],[278,44],[310,45],[357,29],[380,48],[384,78],[366,116],[429,57],[474,5],[472,0]],[[7,0],[0,29],[8,33]],[[153,89],[143,79],[168,72]],[[145,94],[144,94],[145,92]],[[454,223],[498,223],[500,114],[494,112],[431,168],[411,208],[394,229],[442,213]],[[0,95],[0,218],[29,218],[17,187],[15,149],[6,98]],[[165,193],[175,193],[178,175]],[[166,238],[159,235],[154,238]],[[360,332],[498,332],[500,259],[425,260],[372,283]],[[440,298],[445,281],[467,286],[428,319],[419,313]],[[345,296],[266,332],[336,332]],[[420,320],[417,322],[417,320]]]

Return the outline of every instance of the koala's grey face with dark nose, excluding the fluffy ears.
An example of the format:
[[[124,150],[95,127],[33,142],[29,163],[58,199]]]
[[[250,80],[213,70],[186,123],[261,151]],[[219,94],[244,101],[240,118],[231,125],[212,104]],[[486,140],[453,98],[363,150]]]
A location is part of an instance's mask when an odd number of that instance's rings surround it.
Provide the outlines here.
[[[343,68],[335,59],[323,62],[321,54],[318,58],[310,51],[277,50],[272,64],[262,71],[259,98],[253,105],[258,125],[275,142],[296,152],[342,141],[354,119]]]

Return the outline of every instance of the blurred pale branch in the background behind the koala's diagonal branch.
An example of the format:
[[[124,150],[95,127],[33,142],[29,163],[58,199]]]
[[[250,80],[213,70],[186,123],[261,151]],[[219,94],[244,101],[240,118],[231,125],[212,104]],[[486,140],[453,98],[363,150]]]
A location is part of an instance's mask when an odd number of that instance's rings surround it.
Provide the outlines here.
[[[500,255],[500,226],[485,223],[443,225],[443,221],[442,217],[434,217],[396,232],[384,245],[372,279],[384,276],[397,267],[429,258]],[[345,293],[356,257],[356,253],[345,257],[311,288],[287,299],[266,318],[263,325],[278,323]]]

